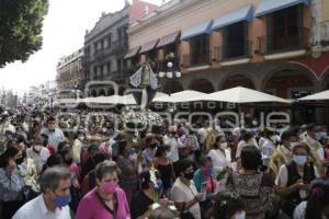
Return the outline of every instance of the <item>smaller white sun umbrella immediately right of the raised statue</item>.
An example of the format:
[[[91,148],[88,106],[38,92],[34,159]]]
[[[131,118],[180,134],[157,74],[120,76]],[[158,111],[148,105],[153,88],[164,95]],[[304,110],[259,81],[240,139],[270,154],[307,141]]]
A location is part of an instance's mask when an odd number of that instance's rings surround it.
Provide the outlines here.
[[[162,103],[180,103],[180,102],[189,102],[193,97],[203,96],[205,93],[192,90],[184,90],[181,92],[173,93],[171,95],[162,95],[159,97],[155,97],[154,102],[162,102]]]

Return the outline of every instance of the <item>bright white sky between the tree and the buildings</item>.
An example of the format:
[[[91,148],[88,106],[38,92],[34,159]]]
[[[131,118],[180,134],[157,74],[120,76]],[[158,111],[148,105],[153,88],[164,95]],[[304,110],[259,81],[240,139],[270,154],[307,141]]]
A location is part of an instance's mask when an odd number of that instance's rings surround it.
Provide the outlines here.
[[[161,0],[145,1],[161,3]],[[0,69],[0,88],[23,94],[31,85],[55,80],[59,58],[83,46],[86,30],[94,26],[103,11],[118,11],[124,2],[125,0],[49,0],[49,11],[43,27],[43,48],[24,64],[15,61]]]

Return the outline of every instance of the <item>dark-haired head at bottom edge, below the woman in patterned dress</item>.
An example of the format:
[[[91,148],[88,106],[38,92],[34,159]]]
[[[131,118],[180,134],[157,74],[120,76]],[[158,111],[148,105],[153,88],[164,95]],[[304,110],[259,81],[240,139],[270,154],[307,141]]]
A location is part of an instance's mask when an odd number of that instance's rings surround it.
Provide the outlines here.
[[[218,194],[214,200],[212,219],[245,219],[246,211],[239,195],[235,193]]]

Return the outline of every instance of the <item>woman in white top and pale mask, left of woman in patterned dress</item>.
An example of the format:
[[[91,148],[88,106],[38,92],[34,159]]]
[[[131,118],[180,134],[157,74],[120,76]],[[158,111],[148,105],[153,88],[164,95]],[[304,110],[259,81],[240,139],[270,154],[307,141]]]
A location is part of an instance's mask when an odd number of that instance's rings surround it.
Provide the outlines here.
[[[227,142],[225,136],[217,136],[216,141],[208,152],[207,157],[212,159],[214,165],[214,174],[217,175],[220,172],[225,172],[229,166],[229,157],[226,157]]]

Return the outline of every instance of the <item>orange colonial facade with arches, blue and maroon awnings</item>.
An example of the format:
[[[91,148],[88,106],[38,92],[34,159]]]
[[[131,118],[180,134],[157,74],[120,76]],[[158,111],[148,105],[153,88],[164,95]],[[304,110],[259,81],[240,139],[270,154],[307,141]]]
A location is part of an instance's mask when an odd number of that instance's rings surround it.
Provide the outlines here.
[[[163,80],[164,92],[211,93],[241,85],[303,97],[329,88],[329,7],[324,4],[172,0],[129,26],[126,64],[149,61],[166,71],[166,57],[173,53],[182,77]]]

